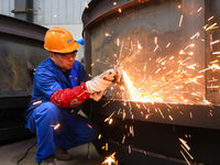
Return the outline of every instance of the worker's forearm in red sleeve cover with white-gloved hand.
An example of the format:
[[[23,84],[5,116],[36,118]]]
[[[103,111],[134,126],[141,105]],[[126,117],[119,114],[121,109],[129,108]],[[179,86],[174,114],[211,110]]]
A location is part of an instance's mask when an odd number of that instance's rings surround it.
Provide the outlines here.
[[[73,89],[59,89],[52,95],[51,101],[59,108],[79,106],[89,97],[98,101],[101,99],[103,90],[111,85],[112,78],[116,75],[113,72],[113,69],[107,70],[94,77],[91,80],[86,81],[86,84],[81,82],[80,86],[76,86]]]

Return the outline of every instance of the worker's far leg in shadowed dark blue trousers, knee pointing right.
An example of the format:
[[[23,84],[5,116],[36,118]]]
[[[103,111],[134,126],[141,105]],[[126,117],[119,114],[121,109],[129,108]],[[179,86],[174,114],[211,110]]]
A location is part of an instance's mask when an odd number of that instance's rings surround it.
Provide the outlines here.
[[[97,125],[80,114],[63,116],[57,133],[56,145],[65,150],[92,142],[99,135]]]

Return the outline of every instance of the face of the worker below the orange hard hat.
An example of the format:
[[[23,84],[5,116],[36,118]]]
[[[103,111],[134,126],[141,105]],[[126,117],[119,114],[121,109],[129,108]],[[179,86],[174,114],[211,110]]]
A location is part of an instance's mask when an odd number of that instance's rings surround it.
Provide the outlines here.
[[[61,70],[66,72],[67,69],[70,69],[74,66],[76,53],[77,51],[68,54],[58,54],[51,52],[50,56]]]

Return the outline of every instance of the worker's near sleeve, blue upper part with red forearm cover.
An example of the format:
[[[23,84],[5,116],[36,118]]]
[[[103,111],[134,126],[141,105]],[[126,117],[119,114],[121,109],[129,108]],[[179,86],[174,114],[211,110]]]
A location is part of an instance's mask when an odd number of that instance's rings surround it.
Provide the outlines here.
[[[53,73],[44,70],[36,73],[35,81],[37,88],[43,92],[53,103],[59,108],[70,108],[81,105],[89,98],[89,92],[85,82],[70,89],[63,89]]]

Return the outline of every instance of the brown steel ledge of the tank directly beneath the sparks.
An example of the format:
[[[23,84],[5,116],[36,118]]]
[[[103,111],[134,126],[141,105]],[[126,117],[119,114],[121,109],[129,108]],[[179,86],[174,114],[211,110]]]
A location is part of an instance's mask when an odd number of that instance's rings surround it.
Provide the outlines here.
[[[114,111],[113,118],[123,118],[134,121],[158,122],[185,127],[220,130],[220,107],[201,105],[174,103],[143,103],[121,100],[107,100],[92,102],[94,113],[102,113],[107,118]],[[124,113],[123,113],[124,112]]]

